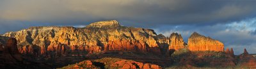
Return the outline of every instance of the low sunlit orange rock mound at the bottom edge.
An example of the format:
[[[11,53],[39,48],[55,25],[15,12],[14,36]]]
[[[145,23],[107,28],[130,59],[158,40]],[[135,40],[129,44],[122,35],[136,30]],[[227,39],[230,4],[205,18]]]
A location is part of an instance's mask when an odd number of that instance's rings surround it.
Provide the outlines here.
[[[74,68],[93,68],[93,69],[161,69],[161,66],[153,65],[150,63],[141,63],[132,60],[124,60],[119,58],[102,58],[95,61],[85,60],[80,63],[64,66],[66,69]]]

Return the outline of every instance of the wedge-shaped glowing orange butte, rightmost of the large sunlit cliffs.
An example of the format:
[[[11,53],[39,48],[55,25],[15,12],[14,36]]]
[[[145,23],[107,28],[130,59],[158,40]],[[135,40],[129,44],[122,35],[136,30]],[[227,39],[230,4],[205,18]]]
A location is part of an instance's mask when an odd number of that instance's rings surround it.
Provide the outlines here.
[[[188,49],[190,51],[224,51],[224,45],[220,41],[194,32],[188,39]]]

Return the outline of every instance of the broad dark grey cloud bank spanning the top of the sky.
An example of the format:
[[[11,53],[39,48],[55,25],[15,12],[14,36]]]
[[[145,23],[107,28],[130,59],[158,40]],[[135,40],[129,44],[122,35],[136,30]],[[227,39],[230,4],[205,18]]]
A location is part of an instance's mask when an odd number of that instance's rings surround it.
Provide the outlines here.
[[[86,25],[98,20],[134,22],[125,25],[197,24],[239,20],[256,15],[256,1],[218,0],[2,0],[0,18],[40,23]],[[158,24],[156,24],[158,23]]]

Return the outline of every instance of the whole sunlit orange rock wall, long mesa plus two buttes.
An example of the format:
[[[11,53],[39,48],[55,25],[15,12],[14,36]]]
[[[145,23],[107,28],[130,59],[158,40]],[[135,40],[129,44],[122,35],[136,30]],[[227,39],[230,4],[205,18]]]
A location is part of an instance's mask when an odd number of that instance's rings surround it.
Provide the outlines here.
[[[108,51],[166,54],[170,49],[179,50],[186,47],[180,34],[173,33],[168,38],[157,35],[151,29],[124,27],[116,20],[95,22],[83,28],[30,27],[17,32],[7,32],[4,37],[15,37],[20,53],[35,56]],[[223,51],[221,42],[197,33],[191,35],[188,42],[191,51]]]

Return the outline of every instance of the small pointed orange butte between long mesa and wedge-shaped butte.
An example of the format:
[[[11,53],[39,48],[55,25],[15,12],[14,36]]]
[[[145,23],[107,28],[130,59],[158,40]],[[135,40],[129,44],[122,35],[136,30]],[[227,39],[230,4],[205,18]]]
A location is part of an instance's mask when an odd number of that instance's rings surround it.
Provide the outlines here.
[[[180,34],[172,33],[170,35],[170,46],[169,49],[175,49],[175,51],[182,49],[186,46],[186,43],[183,41],[183,38]]]

